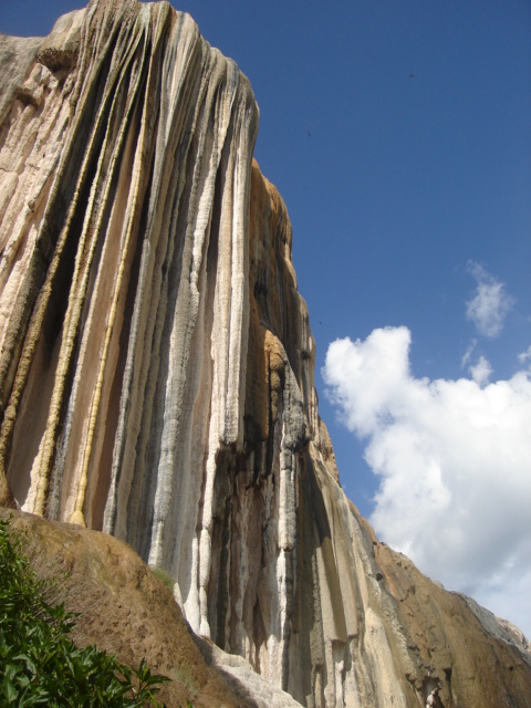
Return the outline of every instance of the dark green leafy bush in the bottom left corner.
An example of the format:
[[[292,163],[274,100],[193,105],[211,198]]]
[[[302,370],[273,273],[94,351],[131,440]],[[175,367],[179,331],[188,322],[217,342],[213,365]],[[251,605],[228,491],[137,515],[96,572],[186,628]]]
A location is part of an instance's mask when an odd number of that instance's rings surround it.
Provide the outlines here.
[[[69,634],[76,615],[45,597],[49,581],[31,569],[20,540],[0,520],[0,705],[52,708],[137,708],[158,704],[165,676],[137,669]]]

